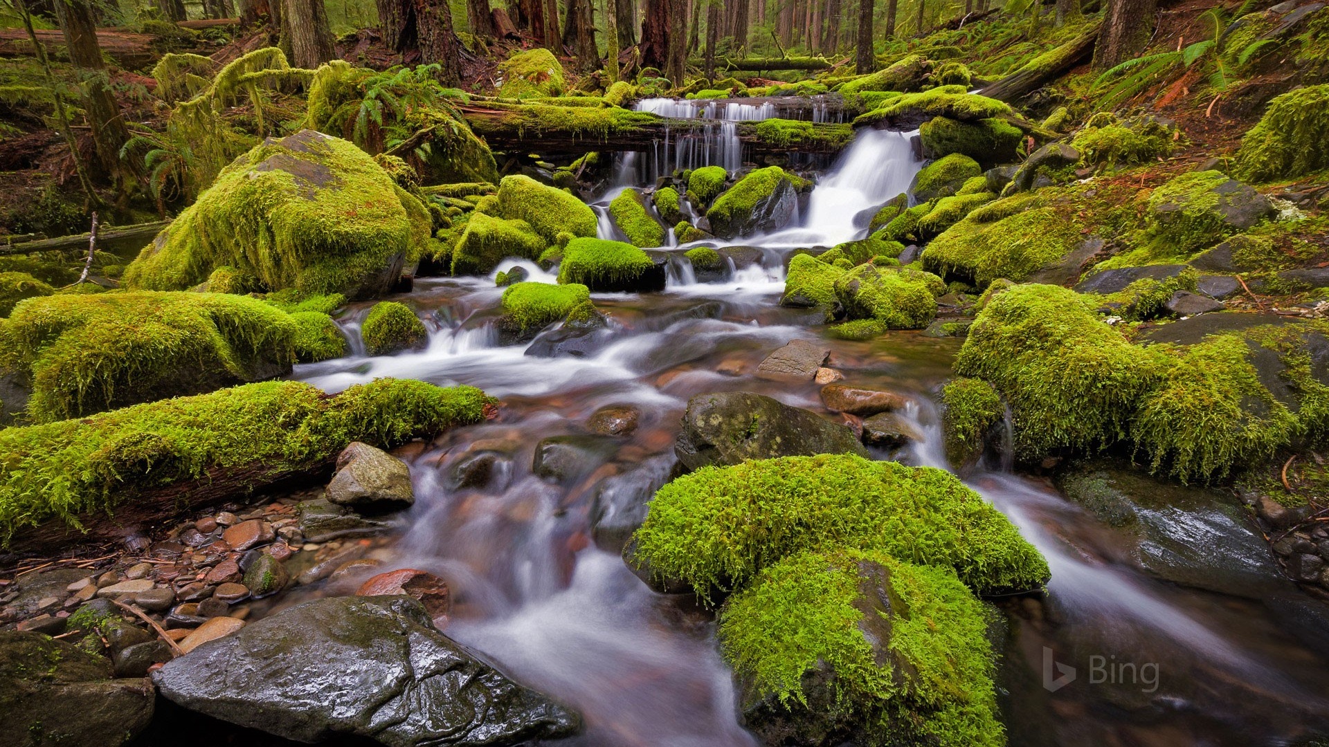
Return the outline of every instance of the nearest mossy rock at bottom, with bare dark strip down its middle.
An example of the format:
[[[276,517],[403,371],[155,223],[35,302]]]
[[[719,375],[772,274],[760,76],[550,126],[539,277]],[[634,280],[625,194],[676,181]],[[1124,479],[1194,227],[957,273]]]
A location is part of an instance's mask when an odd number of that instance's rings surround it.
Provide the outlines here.
[[[848,550],[766,568],[718,637],[763,744],[999,747],[986,627],[952,570]]]

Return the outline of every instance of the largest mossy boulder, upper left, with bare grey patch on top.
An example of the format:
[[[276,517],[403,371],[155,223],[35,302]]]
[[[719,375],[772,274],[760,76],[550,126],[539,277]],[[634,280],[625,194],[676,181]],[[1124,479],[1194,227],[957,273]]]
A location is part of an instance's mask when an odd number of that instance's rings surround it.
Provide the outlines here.
[[[222,169],[125,268],[144,290],[186,290],[230,266],[270,291],[373,298],[431,231],[419,199],[354,144],[314,130],[267,140]]]

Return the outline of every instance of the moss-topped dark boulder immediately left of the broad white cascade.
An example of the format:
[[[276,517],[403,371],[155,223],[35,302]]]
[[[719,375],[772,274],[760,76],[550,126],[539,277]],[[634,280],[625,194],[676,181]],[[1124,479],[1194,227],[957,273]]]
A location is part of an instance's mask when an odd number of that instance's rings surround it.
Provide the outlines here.
[[[793,219],[800,195],[811,189],[812,182],[779,166],[767,166],[747,173],[718,197],[706,218],[711,233],[720,238],[776,231]]]

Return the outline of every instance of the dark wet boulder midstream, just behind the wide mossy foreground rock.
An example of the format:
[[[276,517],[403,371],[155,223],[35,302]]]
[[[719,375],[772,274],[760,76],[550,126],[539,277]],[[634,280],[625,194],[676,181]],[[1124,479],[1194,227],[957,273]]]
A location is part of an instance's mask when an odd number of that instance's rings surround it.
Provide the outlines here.
[[[688,400],[674,453],[687,469],[698,469],[777,456],[867,455],[867,449],[848,427],[805,409],[752,392],[716,392]]]

